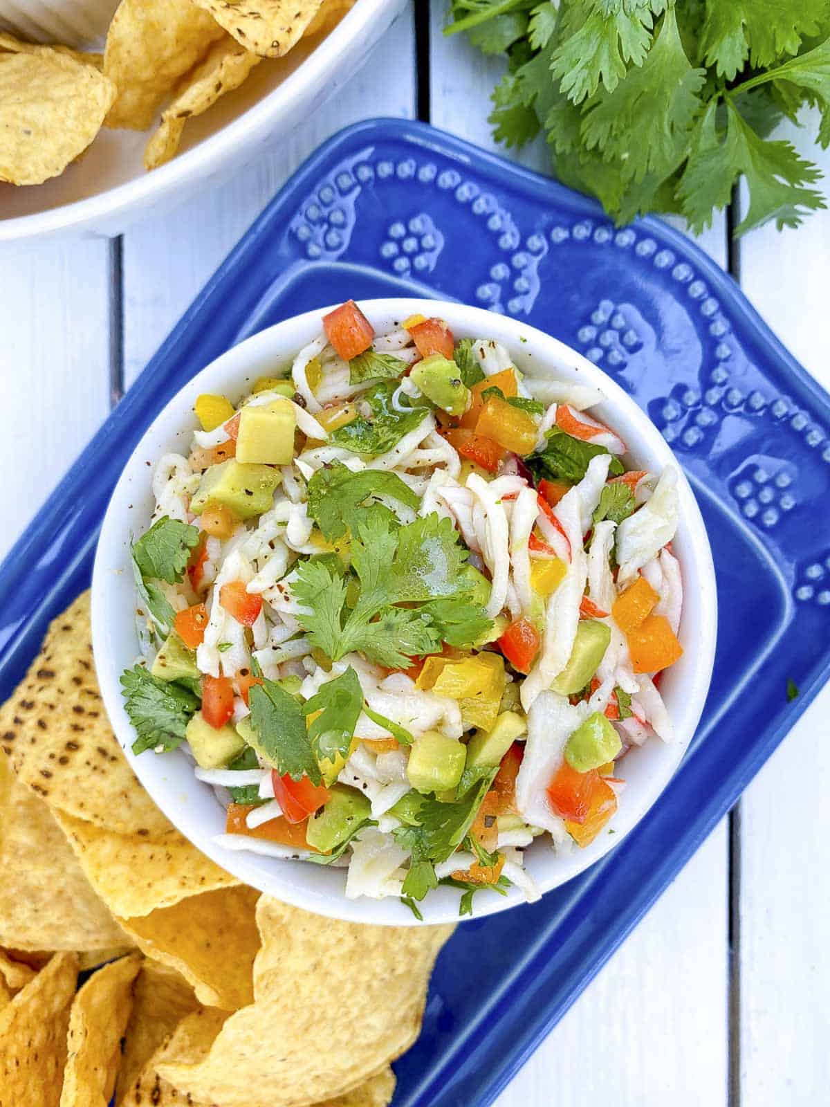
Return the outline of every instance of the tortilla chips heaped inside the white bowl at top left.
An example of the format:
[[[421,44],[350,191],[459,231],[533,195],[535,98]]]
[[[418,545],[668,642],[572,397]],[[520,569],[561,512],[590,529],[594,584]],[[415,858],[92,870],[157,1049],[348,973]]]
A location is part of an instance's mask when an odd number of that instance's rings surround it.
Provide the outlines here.
[[[176,153],[185,123],[263,59],[328,32],[354,0],[122,0],[104,53],[0,32],[0,182],[63,173],[102,126],[146,131],[147,169]],[[274,63],[279,64],[279,63]]]

